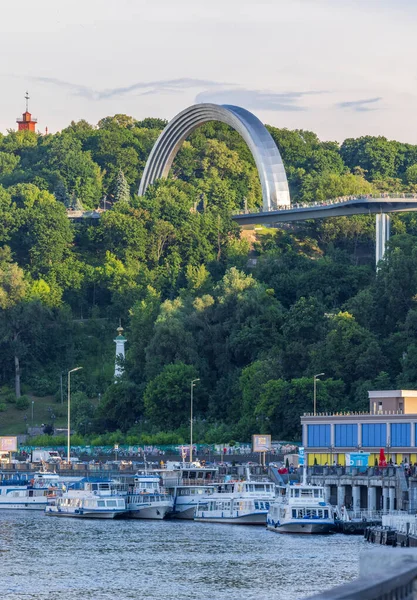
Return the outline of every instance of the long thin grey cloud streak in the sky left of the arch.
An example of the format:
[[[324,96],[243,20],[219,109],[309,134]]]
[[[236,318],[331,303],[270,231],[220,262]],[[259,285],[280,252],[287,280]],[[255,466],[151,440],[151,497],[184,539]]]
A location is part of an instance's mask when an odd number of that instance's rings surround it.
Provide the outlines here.
[[[138,81],[125,87],[110,88],[105,90],[95,90],[88,86],[70,83],[54,77],[32,77],[34,81],[55,85],[62,89],[68,90],[74,96],[81,96],[87,100],[108,100],[117,96],[124,96],[133,92],[142,91],[140,95],[160,94],[160,93],[178,93],[183,90],[193,88],[215,88],[218,86],[233,85],[227,83],[219,83],[209,79],[193,79],[183,77],[180,79],[167,79],[161,81]]]

